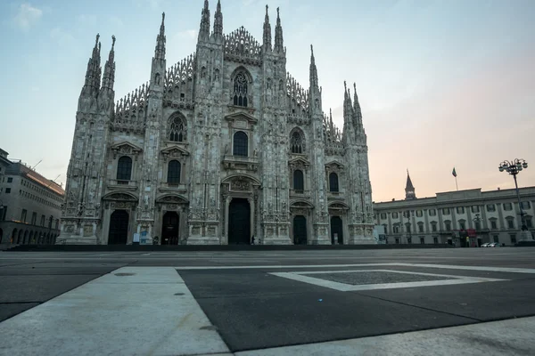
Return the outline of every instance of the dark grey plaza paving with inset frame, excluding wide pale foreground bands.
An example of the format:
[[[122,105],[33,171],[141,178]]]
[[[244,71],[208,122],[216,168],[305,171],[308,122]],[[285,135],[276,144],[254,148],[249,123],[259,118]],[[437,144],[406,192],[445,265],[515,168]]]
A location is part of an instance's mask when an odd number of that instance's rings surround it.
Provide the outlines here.
[[[3,252],[0,321],[120,267],[169,266],[231,352],[381,336],[535,316],[535,273],[515,270],[535,269],[534,257],[532,247]]]

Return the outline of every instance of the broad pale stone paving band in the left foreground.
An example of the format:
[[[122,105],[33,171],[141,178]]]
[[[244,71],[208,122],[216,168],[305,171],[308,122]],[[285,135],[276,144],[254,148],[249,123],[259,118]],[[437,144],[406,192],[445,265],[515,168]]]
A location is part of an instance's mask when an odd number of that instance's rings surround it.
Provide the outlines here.
[[[124,267],[0,323],[0,354],[229,352],[172,267]]]

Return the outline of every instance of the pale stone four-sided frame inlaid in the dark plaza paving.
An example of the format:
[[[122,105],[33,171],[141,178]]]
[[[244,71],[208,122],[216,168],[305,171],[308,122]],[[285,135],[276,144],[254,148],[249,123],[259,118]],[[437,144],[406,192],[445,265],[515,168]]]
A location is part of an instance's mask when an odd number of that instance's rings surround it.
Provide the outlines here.
[[[448,279],[439,280],[424,280],[419,282],[399,282],[399,283],[376,283],[365,285],[352,285],[348,283],[335,282],[333,280],[319,279],[308,277],[308,274],[325,274],[325,273],[362,273],[362,272],[393,272],[403,274],[416,274],[422,276],[443,277]],[[300,282],[313,284],[319,287],[327,287],[341,292],[360,291],[360,290],[375,290],[375,289],[394,289],[394,288],[412,288],[412,287],[432,287],[432,286],[451,286],[457,284],[481,283],[481,282],[498,282],[507,279],[490,279],[480,277],[464,277],[452,276],[448,274],[434,274],[434,273],[420,273],[409,271],[391,271],[391,270],[360,270],[360,271],[307,271],[307,272],[271,272],[274,276],[283,277],[286,279],[298,280]]]

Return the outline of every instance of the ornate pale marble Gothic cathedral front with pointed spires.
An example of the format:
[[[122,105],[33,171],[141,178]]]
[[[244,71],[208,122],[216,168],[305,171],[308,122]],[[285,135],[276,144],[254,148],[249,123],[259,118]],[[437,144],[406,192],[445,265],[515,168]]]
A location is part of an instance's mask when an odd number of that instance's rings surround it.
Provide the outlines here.
[[[150,80],[115,101],[114,47],[101,81],[97,35],[78,101],[62,206],[63,244],[369,244],[374,217],[357,93],[343,131],[286,71],[277,9],[263,41],[210,27],[195,52],[166,62],[162,15]],[[115,38],[113,37],[113,44]]]

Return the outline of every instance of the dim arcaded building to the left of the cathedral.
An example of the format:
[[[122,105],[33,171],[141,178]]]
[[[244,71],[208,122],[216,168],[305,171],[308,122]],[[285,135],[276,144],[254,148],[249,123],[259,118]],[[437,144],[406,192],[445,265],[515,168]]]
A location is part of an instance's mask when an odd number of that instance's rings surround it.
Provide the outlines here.
[[[64,190],[3,153],[0,150],[0,244],[53,244],[60,234]]]

